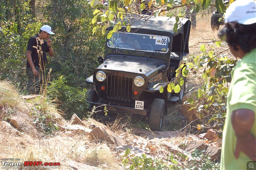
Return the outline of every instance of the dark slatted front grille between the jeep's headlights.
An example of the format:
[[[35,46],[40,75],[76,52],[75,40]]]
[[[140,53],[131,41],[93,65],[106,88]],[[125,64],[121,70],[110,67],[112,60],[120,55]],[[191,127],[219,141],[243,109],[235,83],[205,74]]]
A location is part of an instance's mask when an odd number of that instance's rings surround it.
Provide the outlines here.
[[[131,101],[132,79],[108,76],[107,97],[116,100]]]

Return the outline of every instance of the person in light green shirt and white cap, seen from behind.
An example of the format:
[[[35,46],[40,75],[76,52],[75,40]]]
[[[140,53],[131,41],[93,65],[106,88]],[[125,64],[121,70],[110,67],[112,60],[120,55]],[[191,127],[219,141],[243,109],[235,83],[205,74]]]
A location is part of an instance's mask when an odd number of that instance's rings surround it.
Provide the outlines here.
[[[218,35],[241,59],[231,72],[220,169],[246,169],[256,161],[256,2],[231,3]]]

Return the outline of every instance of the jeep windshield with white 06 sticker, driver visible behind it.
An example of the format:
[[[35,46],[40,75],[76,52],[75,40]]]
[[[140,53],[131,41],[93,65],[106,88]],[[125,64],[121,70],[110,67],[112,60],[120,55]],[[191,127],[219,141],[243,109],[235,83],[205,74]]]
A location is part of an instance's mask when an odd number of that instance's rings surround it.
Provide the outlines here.
[[[167,53],[170,38],[168,36],[138,34],[138,33],[113,33],[108,40],[109,48],[141,50],[159,53]]]

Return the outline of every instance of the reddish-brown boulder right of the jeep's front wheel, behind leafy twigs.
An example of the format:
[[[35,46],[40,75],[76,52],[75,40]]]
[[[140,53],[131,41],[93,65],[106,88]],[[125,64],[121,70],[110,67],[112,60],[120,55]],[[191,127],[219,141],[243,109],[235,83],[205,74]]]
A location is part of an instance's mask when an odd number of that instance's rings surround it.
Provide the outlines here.
[[[192,97],[192,91],[185,94],[183,99],[182,99],[182,103],[184,103],[185,101],[188,100],[188,98]],[[198,115],[199,115],[199,112],[196,111],[196,109],[192,109],[190,111],[188,111],[191,106],[188,105],[188,104],[181,104],[181,113],[182,115],[185,117],[185,119],[188,121],[188,122],[192,122],[196,119],[198,119]],[[198,121],[199,122],[199,121]],[[195,122],[197,123],[197,122]]]

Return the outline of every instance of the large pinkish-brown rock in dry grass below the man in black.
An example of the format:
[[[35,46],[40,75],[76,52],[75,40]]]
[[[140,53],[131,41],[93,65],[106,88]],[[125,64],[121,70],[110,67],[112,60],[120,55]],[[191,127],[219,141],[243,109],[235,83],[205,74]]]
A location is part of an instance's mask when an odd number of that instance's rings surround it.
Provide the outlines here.
[[[13,116],[9,118],[8,121],[14,128],[18,129],[20,132],[36,134],[35,128],[25,118]]]

